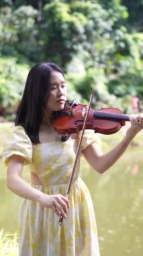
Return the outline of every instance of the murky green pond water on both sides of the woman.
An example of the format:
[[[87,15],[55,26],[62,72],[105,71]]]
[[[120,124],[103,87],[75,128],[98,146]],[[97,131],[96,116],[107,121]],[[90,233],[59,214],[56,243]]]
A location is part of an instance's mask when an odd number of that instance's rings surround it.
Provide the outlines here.
[[[93,199],[101,256],[143,255],[142,150],[142,143],[130,146],[105,174],[82,160],[81,177]],[[21,199],[7,189],[1,161],[0,170],[0,229],[14,232]],[[27,170],[24,177],[29,179]]]

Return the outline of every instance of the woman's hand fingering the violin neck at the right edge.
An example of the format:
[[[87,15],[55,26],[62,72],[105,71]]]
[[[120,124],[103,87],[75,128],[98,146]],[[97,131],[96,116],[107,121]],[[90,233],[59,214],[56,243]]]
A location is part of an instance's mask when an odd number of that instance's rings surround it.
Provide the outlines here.
[[[134,116],[129,116],[131,126],[127,131],[127,135],[135,136],[139,131],[143,129],[143,115],[138,115],[140,121]]]

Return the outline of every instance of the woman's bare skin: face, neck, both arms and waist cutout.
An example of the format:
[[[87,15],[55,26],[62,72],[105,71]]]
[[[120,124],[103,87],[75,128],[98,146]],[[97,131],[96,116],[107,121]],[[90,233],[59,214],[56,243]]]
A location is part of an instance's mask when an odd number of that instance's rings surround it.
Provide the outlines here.
[[[46,110],[48,118],[52,121],[53,112],[64,108],[66,85],[63,75],[57,71],[52,72],[50,82],[52,87]],[[140,115],[139,117],[140,122],[136,120],[136,117],[130,117],[131,125],[126,132],[124,139],[106,154],[103,154],[101,150],[97,148],[96,143],[92,143],[83,150],[83,155],[94,170],[99,173],[105,172],[120,158],[120,156],[122,156],[122,154],[124,154],[132,139],[134,139],[136,134],[143,129],[143,115]],[[39,137],[41,143],[60,141],[60,135],[54,131],[52,126],[49,127],[46,117],[43,117]],[[63,195],[47,195],[42,193],[42,191],[38,191],[38,189],[31,187],[21,178],[22,171],[23,158],[16,155],[11,156],[7,168],[7,187],[20,197],[37,201],[42,206],[53,209],[57,216],[66,218],[70,206],[68,199]],[[36,174],[32,173],[31,177],[33,184],[42,185]]]

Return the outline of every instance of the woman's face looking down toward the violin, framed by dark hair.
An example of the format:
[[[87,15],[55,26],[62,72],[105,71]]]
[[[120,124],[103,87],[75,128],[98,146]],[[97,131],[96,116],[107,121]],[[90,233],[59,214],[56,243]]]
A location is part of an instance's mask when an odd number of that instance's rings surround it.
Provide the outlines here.
[[[46,110],[50,116],[54,111],[62,110],[66,100],[66,85],[62,73],[52,71],[50,74],[50,95]]]

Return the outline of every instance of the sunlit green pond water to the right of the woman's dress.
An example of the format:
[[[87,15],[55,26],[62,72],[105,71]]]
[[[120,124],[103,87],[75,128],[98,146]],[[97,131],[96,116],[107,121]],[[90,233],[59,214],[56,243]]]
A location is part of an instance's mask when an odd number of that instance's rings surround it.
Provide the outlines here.
[[[93,198],[101,256],[143,255],[142,162],[131,150],[105,174],[82,172]]]

